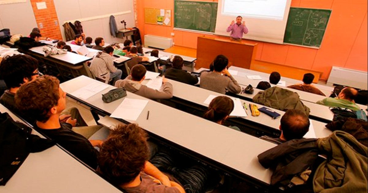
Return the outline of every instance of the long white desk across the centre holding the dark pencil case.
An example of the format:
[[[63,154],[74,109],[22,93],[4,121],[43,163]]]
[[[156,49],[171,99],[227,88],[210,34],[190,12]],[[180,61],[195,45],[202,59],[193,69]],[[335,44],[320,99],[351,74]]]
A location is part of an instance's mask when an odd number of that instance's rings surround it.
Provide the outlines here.
[[[93,82],[97,81],[86,76],[79,76],[61,83],[60,86],[70,96],[70,93]],[[92,108],[111,114],[124,100],[123,98],[112,103],[103,103],[101,94],[113,88],[115,87],[109,85],[105,90],[86,100],[75,96],[74,98]],[[148,100],[129,92],[127,92],[127,97]],[[148,110],[150,112],[147,120]],[[270,183],[271,171],[264,169],[256,157],[263,151],[276,146],[275,144],[152,100],[148,100],[148,104],[136,122],[146,131],[205,156],[206,159],[230,167],[234,172],[245,176],[244,178],[250,176],[258,182]]]

